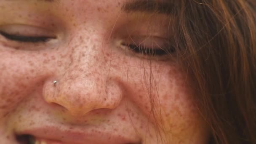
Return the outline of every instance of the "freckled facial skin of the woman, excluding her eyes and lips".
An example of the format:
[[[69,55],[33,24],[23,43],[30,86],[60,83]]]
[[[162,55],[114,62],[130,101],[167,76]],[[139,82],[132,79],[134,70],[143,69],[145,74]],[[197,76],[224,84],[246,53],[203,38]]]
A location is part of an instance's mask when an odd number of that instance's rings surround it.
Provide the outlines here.
[[[15,144],[14,133],[42,123],[67,131],[125,133],[143,144],[206,143],[208,128],[179,64],[129,55],[109,37],[127,27],[127,14],[120,12],[124,2],[64,0],[51,13],[39,2],[0,2],[0,14],[19,17],[9,23],[44,21],[61,35],[54,46],[36,51],[14,49],[17,44],[0,37],[1,144]],[[9,11],[11,3],[20,5]],[[49,15],[58,18],[42,20]]]

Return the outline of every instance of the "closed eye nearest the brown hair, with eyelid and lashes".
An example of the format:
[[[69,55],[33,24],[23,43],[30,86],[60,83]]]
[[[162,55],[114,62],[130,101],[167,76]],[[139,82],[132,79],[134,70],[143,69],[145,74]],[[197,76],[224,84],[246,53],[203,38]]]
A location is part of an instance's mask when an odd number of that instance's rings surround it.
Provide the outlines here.
[[[130,37],[122,45],[137,56],[156,58],[175,52],[171,42],[161,37]]]

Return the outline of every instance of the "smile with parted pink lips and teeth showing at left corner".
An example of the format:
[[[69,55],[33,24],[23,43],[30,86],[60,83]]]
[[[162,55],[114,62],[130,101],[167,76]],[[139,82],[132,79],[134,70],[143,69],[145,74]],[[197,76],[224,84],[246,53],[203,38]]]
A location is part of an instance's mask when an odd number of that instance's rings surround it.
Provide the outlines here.
[[[26,133],[26,132],[24,132]],[[34,131],[16,135],[18,144],[141,144],[134,139],[109,133],[78,133],[63,131]]]

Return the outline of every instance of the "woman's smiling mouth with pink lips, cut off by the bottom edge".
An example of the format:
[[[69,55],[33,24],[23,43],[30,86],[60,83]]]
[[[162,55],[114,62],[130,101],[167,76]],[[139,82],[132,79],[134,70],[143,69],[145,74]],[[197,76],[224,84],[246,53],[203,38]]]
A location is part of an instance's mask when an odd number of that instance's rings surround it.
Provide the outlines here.
[[[55,125],[44,125],[33,128],[22,128],[13,134],[17,144],[141,144],[136,135],[116,133],[95,127],[67,128]]]

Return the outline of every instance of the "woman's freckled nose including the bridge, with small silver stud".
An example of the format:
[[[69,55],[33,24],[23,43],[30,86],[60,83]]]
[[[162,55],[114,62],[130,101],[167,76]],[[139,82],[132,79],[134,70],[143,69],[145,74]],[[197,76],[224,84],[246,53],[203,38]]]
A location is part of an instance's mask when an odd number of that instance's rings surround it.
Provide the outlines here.
[[[73,64],[57,79],[45,82],[43,90],[46,102],[64,107],[73,116],[95,109],[115,109],[122,99],[118,80],[109,75],[103,54],[95,47],[87,51],[83,59],[73,59]]]

